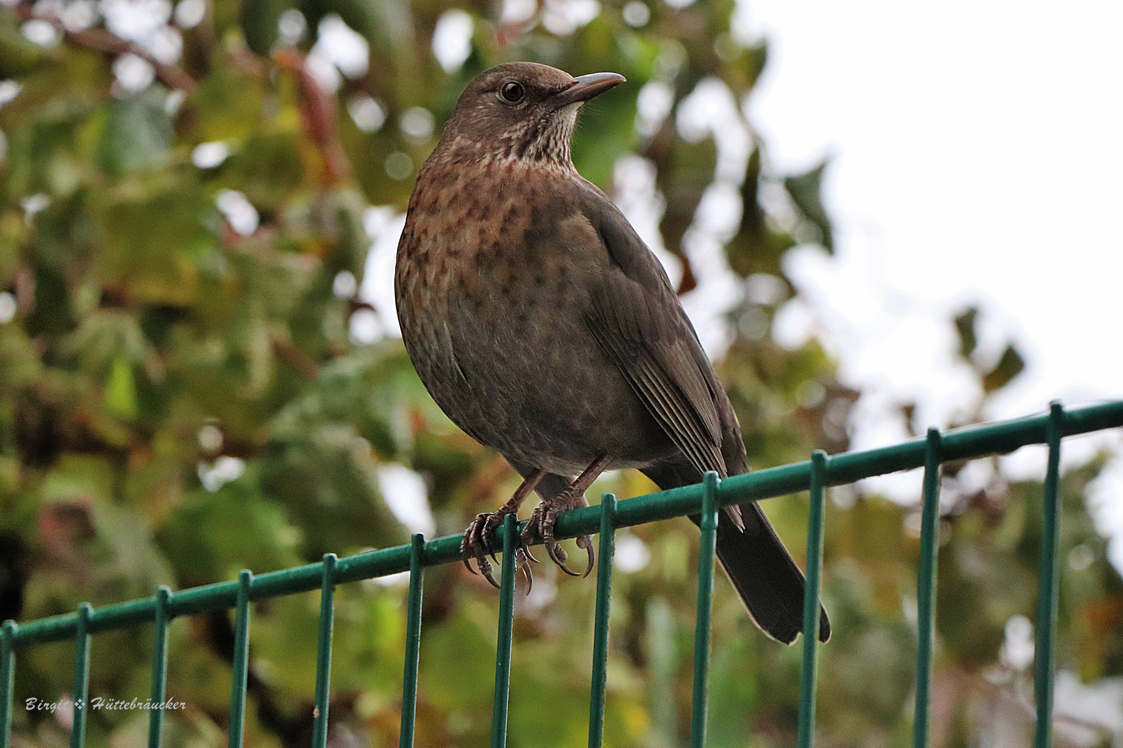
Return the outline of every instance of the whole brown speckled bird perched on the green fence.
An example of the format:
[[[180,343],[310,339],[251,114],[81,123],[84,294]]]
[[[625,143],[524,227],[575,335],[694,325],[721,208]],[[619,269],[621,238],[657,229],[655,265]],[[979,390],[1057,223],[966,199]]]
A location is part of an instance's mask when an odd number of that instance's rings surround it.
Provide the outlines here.
[[[394,268],[405,350],[445,414],[523,478],[463,538],[468,571],[475,561],[496,587],[493,533],[531,491],[541,502],[517,562],[528,582],[536,539],[578,575],[554,527],[587,506],[601,472],[636,468],[669,489],[748,471],[737,415],[663,265],[573,164],[578,110],[623,82],[531,62],[485,70],[410,195]],[[587,575],[592,538],[576,542]],[[720,512],[716,556],[757,626],[793,643],[804,576],[756,502]],[[819,634],[830,637],[822,609]]]

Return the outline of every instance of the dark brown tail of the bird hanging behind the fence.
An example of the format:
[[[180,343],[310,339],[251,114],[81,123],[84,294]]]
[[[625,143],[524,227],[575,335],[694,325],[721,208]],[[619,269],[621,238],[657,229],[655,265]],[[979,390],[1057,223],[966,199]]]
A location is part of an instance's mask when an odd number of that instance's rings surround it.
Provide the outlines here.
[[[679,469],[650,468],[643,472],[663,489],[701,480]],[[768,636],[792,644],[803,630],[803,572],[795,565],[765,512],[756,502],[740,506],[742,532],[725,511],[718,515],[718,558],[752,620]],[[697,517],[692,517],[697,523]],[[827,611],[819,609],[819,640],[831,636]]]

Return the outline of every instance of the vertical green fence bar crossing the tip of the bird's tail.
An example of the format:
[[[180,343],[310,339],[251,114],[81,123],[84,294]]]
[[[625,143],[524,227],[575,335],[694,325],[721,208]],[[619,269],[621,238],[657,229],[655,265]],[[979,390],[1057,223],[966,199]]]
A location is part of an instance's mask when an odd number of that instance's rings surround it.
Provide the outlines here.
[[[803,668],[800,673],[800,722],[796,746],[811,748],[815,740],[815,678],[819,647],[819,574],[823,567],[823,509],[827,491],[827,453],[811,455],[811,506],[807,516],[807,583],[803,594]]]

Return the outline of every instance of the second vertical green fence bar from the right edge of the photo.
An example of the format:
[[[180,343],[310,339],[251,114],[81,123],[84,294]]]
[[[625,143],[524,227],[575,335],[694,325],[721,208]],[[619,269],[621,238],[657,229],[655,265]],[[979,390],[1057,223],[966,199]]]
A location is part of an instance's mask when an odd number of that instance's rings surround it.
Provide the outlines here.
[[[916,710],[913,746],[928,746],[932,696],[932,641],[935,638],[935,569],[940,552],[940,430],[929,428],[924,444],[924,498],[920,520],[920,572],[916,579]]]

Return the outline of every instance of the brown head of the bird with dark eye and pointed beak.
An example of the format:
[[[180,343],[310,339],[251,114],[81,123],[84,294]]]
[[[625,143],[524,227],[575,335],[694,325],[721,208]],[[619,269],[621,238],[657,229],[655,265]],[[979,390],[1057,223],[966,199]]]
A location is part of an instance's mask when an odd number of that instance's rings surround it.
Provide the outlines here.
[[[438,150],[453,160],[518,159],[572,168],[569,139],[581,105],[624,76],[574,77],[538,63],[504,63],[460,94]]]

